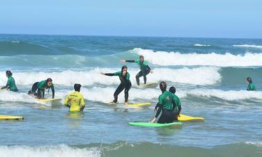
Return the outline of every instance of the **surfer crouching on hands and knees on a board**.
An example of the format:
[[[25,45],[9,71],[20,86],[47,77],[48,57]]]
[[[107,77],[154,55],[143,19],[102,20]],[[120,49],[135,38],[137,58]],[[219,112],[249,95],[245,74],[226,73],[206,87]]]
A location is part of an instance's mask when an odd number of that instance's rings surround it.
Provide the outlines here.
[[[52,98],[54,98],[55,88],[53,86],[53,81],[51,78],[47,78],[44,81],[34,83],[32,89],[28,91],[28,94],[34,94],[37,99],[44,99],[44,90],[50,88],[52,90]]]

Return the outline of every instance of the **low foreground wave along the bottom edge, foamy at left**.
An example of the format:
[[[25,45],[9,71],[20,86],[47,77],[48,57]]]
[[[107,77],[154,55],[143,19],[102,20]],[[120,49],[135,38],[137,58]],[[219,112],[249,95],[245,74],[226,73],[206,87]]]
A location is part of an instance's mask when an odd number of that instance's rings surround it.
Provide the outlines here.
[[[147,150],[147,151],[145,151]],[[232,151],[234,150],[234,151]],[[173,153],[174,152],[174,153]],[[186,152],[186,154],[185,154]],[[116,142],[113,144],[85,144],[69,146],[66,144],[49,146],[1,146],[0,156],[261,156],[261,147],[254,144],[239,142],[223,144],[210,149],[201,147],[183,147],[170,144],[154,144],[150,142],[130,143]]]

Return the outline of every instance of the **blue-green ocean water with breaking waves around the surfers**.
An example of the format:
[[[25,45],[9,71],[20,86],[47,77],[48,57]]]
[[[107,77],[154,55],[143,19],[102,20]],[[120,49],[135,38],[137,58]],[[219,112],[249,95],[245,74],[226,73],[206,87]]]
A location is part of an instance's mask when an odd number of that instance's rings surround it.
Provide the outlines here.
[[[161,94],[137,88],[134,63],[125,64],[129,101],[152,107],[102,103],[113,99],[119,78],[99,72],[120,71],[121,59],[139,55],[154,70],[148,82],[174,85],[182,113],[204,122],[184,122],[180,129],[129,126],[148,122]],[[0,114],[25,119],[0,121],[0,156],[262,156],[262,40],[0,35],[0,85],[7,69],[19,93],[0,92]],[[256,91],[246,91],[247,76]],[[48,77],[62,99],[80,83],[84,112],[69,113],[62,101],[40,104],[26,94]]]

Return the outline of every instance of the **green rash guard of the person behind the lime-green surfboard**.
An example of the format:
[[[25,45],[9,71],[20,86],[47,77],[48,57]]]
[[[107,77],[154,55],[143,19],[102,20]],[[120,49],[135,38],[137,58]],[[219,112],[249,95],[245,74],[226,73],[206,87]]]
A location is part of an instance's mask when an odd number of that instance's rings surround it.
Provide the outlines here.
[[[172,101],[175,100],[175,95],[171,92],[165,91],[158,97],[158,104],[165,110],[173,110]]]

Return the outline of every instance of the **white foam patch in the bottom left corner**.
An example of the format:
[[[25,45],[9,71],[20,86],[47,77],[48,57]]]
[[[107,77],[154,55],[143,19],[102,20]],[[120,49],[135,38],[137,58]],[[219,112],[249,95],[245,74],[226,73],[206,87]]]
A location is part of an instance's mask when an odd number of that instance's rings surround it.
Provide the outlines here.
[[[29,147],[29,146],[1,146],[1,157],[87,157],[87,156],[101,156],[100,151],[97,149],[76,148],[69,147],[67,145],[58,146],[41,146],[41,147]]]

